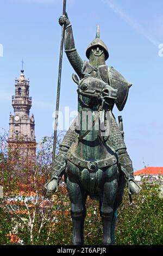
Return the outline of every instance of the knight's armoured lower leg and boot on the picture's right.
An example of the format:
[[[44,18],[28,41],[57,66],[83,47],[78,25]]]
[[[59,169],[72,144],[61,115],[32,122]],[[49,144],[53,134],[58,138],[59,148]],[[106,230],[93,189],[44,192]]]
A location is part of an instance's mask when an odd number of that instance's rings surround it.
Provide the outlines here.
[[[128,183],[128,190],[130,194],[137,194],[141,191],[141,187],[134,180],[133,164],[126,149],[117,151],[118,159],[121,163],[121,170]]]

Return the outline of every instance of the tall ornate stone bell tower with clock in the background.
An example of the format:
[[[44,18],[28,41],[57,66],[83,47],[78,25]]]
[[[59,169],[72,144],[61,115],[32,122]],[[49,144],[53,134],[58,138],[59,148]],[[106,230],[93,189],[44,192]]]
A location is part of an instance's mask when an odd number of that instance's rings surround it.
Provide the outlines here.
[[[20,78],[15,80],[15,95],[12,96],[14,115],[10,113],[8,144],[11,150],[18,148],[21,157],[34,160],[36,154],[35,120],[30,116],[32,97],[29,97],[29,80],[21,70]]]

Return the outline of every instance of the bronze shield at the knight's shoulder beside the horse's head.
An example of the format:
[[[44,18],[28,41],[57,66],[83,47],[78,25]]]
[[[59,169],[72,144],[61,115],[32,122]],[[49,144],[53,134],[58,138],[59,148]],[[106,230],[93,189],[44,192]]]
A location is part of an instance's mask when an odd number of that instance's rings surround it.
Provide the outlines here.
[[[132,86],[127,80],[112,66],[108,67],[109,84],[114,89],[117,89],[116,106],[119,111],[122,111],[128,97],[129,88]]]

